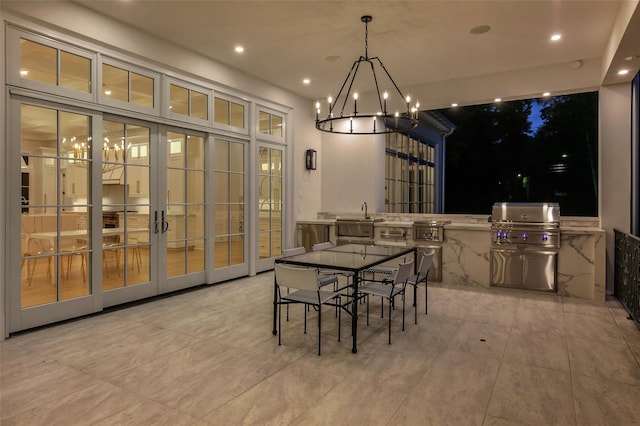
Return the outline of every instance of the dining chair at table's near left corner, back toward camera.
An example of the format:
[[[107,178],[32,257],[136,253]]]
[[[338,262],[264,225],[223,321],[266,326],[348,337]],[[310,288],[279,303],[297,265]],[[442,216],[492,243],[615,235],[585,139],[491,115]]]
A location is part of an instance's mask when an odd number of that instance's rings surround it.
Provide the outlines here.
[[[338,342],[340,341],[340,293],[321,290],[318,271],[276,263],[275,282],[278,289],[278,345],[282,345],[282,305],[303,304],[318,311],[318,355],[322,345],[322,305],[338,308]],[[282,288],[287,292],[283,293]],[[307,334],[307,309],[304,309],[304,333]]]

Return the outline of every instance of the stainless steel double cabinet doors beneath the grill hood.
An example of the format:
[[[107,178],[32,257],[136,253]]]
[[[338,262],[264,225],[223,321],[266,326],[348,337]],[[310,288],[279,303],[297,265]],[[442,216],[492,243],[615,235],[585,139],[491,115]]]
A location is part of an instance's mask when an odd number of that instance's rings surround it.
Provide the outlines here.
[[[528,248],[491,250],[491,285],[556,291],[558,253]]]

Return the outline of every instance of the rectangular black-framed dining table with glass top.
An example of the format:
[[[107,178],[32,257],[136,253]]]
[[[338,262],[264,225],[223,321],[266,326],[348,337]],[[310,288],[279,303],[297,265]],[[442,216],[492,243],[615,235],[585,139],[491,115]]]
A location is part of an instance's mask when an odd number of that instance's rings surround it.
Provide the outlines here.
[[[303,254],[284,256],[275,259],[275,263],[295,265],[318,270],[333,270],[352,277],[347,288],[351,293],[347,294],[351,300],[345,303],[343,308],[351,316],[351,335],[353,339],[351,352],[357,353],[358,347],[358,284],[363,279],[363,272],[376,265],[390,262],[394,259],[413,254],[416,256],[415,247],[370,245],[370,244],[344,244],[326,248],[324,250],[310,251]],[[408,259],[407,259],[408,260]],[[414,262],[415,269],[415,262]],[[277,304],[278,283],[274,276],[273,289],[273,334],[277,335]],[[349,309],[350,305],[350,309]]]

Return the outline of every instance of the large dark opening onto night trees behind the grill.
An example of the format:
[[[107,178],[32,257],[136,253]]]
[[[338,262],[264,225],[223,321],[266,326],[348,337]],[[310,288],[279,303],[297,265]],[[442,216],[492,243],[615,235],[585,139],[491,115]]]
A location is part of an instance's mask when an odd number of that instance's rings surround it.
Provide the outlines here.
[[[440,112],[457,126],[447,138],[446,213],[538,201],[598,216],[597,92]]]

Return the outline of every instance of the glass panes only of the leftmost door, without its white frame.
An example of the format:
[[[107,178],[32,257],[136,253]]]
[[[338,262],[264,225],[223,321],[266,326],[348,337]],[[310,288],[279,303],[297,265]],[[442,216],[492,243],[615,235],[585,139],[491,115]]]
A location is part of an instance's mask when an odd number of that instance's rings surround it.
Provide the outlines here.
[[[69,158],[90,145],[91,117],[22,105],[21,135],[21,307],[87,296],[91,160]]]

